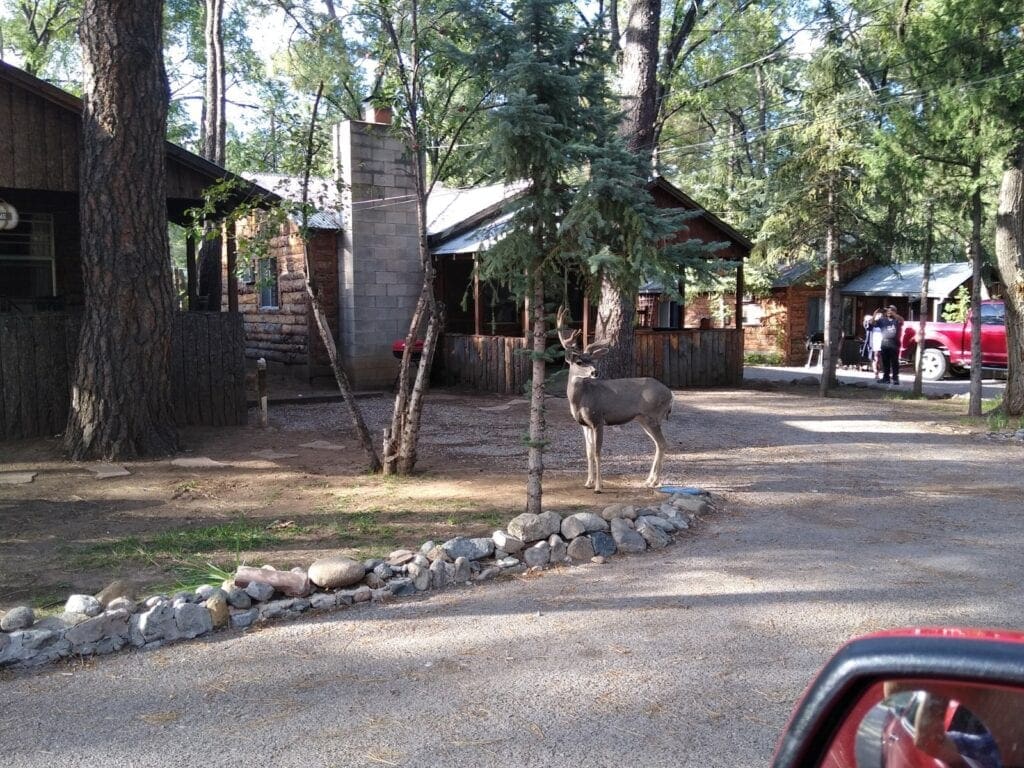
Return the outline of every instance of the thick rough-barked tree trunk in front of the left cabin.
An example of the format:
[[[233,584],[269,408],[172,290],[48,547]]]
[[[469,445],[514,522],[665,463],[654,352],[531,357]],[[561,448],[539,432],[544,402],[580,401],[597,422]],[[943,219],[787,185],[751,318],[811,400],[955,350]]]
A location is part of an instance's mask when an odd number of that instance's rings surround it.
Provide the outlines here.
[[[65,446],[75,460],[177,449],[162,2],[86,0],[80,214],[85,311]]]

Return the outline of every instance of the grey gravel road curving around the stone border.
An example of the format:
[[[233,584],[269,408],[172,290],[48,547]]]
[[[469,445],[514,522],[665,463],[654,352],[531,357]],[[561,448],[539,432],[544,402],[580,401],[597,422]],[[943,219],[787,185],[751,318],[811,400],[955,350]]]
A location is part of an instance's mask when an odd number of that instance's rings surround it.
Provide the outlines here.
[[[1020,442],[892,400],[677,402],[668,479],[722,510],[670,549],[7,673],[4,763],[764,766],[847,638],[1024,627]],[[609,471],[644,440],[609,435]]]

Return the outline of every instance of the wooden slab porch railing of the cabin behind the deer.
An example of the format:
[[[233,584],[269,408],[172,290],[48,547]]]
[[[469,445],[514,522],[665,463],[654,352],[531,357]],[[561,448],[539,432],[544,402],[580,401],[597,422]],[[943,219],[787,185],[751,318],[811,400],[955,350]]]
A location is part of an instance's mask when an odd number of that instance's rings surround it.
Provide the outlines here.
[[[637,376],[651,376],[674,389],[733,387],[742,381],[741,331],[639,331],[635,339]],[[445,334],[446,383],[519,394],[530,376],[525,350],[521,337]]]

